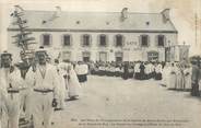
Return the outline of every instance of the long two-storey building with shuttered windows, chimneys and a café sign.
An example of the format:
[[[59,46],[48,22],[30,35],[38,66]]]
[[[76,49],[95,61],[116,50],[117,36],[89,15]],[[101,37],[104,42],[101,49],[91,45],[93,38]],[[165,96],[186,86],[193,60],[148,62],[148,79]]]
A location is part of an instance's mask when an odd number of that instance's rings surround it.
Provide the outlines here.
[[[52,57],[93,61],[170,60],[167,47],[178,45],[177,30],[169,10],[159,13],[134,13],[125,8],[121,12],[63,12],[25,10],[27,31],[36,44],[44,46]],[[11,24],[9,49],[20,53],[12,44],[17,26]],[[19,54],[14,54],[17,58]]]

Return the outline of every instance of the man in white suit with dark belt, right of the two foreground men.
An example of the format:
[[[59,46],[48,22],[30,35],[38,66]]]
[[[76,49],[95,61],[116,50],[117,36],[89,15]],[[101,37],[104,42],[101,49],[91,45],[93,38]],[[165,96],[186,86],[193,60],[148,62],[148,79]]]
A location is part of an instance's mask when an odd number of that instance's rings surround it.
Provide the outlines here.
[[[57,107],[59,96],[59,79],[56,67],[46,61],[47,53],[40,48],[36,50],[36,69],[28,70],[26,79],[33,85],[33,117],[35,128],[50,128],[54,108]]]

